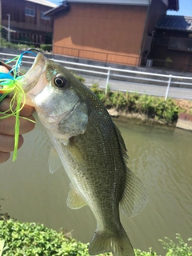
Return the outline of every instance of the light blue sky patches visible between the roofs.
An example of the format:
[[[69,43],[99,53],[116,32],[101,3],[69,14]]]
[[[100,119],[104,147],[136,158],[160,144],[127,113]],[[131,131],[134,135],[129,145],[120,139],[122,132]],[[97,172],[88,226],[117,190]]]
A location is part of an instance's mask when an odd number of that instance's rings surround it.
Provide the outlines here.
[[[62,0],[48,0],[48,1],[54,2],[58,6],[62,2]],[[192,0],[178,0],[178,1],[179,1],[179,10],[178,11],[168,10],[166,14],[192,16]]]

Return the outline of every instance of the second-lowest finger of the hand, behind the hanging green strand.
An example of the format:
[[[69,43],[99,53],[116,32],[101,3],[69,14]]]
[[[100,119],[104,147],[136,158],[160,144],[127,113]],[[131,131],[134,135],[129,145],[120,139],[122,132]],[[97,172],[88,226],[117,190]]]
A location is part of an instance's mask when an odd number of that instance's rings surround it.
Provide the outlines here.
[[[18,137],[18,149],[23,144],[22,135]],[[0,134],[0,152],[8,153],[14,150],[14,136]]]

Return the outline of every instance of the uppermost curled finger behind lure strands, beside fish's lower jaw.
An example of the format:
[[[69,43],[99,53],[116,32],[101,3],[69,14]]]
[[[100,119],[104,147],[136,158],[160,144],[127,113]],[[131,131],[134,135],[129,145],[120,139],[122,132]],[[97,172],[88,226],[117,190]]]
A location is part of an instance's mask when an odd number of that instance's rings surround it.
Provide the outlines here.
[[[1,112],[4,112],[4,111],[10,109],[10,101],[11,101],[11,98],[5,98],[5,99],[3,99],[2,102],[0,102],[0,111]],[[15,109],[15,105],[13,106],[13,110],[14,109]],[[20,111],[20,115],[23,117],[28,117],[31,114],[34,114],[34,111],[35,111],[34,107],[25,105],[22,108],[22,110]],[[10,112],[8,112],[8,113],[10,113]]]

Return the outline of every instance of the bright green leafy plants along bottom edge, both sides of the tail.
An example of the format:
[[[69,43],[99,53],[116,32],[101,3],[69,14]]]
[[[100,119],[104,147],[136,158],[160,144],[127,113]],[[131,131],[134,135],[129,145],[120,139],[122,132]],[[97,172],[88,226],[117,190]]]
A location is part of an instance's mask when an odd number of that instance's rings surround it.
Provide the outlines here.
[[[188,246],[179,234],[178,243],[170,238],[162,242],[166,256],[192,256]],[[192,238],[189,239],[192,241]],[[88,244],[77,242],[69,234],[59,233],[42,224],[18,222],[13,219],[0,220],[0,256],[88,256]],[[104,254],[102,254],[104,255]],[[111,256],[112,254],[105,254]],[[149,252],[135,250],[136,256],[158,256],[151,248]],[[160,255],[159,255],[160,256]]]

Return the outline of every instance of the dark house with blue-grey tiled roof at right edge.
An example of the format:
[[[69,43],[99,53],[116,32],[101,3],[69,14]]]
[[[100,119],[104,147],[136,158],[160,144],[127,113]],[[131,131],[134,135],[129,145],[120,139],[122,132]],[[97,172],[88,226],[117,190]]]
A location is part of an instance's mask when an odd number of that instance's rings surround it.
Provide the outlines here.
[[[153,66],[192,71],[192,17],[165,15],[156,25]]]

